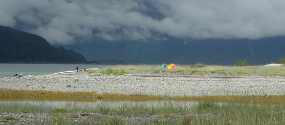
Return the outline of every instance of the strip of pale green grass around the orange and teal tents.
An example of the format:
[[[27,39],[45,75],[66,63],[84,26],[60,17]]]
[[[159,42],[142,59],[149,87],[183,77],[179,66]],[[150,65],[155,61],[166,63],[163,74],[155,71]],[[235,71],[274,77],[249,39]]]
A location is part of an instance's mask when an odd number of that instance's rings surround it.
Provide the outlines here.
[[[89,74],[95,73],[93,71]],[[257,76],[281,76],[285,77],[285,67],[264,67],[264,66],[210,66],[197,64],[194,66],[177,65],[176,70],[161,69],[160,66],[154,65],[119,65],[106,67],[101,69],[101,74],[123,75],[125,73],[153,73],[153,74],[185,74],[185,75],[205,75],[205,74],[221,74],[221,75],[257,75]]]

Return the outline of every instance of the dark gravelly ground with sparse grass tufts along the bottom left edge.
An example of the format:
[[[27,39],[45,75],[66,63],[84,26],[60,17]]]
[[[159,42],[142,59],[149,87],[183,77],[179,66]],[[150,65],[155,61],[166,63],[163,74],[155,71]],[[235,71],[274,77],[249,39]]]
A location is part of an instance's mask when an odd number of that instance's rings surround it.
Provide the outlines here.
[[[164,117],[163,114],[154,115],[139,115],[139,116],[123,116],[119,114],[98,114],[98,113],[11,113],[0,112],[0,124],[56,124],[63,121],[66,124],[100,124],[100,121],[109,118],[117,119],[117,124],[153,124],[157,121],[168,119],[183,119],[185,117],[212,117],[213,114],[168,114]],[[13,120],[6,120],[5,117],[13,117]],[[63,123],[63,124],[64,124]],[[116,123],[115,123],[116,124]]]

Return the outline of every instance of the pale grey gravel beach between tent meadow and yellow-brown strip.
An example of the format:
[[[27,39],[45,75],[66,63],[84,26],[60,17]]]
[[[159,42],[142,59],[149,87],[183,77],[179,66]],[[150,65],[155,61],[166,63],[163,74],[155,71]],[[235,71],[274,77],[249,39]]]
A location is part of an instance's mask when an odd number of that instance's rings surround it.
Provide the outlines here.
[[[18,90],[90,91],[162,97],[215,95],[284,95],[284,77],[185,76],[80,73],[0,78],[0,88]]]

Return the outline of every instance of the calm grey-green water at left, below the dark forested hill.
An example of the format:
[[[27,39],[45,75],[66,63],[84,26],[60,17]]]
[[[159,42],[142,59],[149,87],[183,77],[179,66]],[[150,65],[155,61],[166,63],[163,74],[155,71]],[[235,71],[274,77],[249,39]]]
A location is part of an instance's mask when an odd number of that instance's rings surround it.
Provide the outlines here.
[[[23,75],[53,74],[62,71],[79,69],[102,68],[108,65],[85,65],[85,64],[0,64],[0,77]]]

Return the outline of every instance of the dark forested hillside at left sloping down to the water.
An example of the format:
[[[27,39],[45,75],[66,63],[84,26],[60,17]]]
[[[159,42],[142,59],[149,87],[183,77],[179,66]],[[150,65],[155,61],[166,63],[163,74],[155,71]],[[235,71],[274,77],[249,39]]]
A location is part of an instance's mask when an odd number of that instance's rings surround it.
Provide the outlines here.
[[[53,47],[45,39],[0,26],[0,62],[86,62],[73,50]]]

